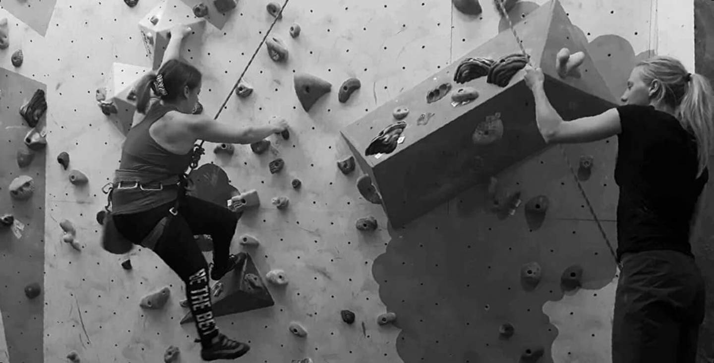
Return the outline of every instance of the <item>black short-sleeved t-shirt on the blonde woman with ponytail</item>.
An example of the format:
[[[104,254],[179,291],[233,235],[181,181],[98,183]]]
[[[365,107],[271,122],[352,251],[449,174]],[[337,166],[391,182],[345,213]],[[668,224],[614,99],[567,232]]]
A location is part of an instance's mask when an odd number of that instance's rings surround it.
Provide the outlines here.
[[[709,179],[697,178],[694,136],[653,106],[620,106],[615,182],[618,260],[625,252],[671,249],[692,255],[690,221]]]

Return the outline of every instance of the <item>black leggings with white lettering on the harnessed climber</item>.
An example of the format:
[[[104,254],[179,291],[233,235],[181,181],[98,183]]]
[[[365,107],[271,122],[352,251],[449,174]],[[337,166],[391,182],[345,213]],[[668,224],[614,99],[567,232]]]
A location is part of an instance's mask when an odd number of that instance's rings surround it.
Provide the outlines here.
[[[173,205],[170,202],[146,212],[115,215],[114,223],[126,239],[140,244]],[[188,305],[196,317],[196,329],[204,347],[218,334],[218,329],[211,309],[208,264],[193,235],[211,235],[213,264],[225,267],[237,224],[238,216],[227,208],[187,196],[154,247],[154,252],[186,283]]]

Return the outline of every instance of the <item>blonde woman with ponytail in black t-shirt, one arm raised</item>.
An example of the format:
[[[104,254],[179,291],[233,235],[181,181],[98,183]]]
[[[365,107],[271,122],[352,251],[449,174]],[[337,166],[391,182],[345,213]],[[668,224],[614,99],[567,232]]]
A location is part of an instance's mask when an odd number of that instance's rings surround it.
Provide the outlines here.
[[[615,182],[620,279],[613,363],[694,363],[705,312],[703,277],[691,251],[714,137],[709,81],[668,56],[640,61],[625,103],[565,122],[526,66],[540,134],[549,144],[618,135]]]

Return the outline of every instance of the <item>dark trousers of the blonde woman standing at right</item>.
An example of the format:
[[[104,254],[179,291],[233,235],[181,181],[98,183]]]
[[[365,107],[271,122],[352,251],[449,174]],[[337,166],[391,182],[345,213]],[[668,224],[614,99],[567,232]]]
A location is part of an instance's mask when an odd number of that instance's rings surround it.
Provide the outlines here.
[[[613,363],[694,363],[705,314],[692,257],[661,250],[625,254],[615,293]]]

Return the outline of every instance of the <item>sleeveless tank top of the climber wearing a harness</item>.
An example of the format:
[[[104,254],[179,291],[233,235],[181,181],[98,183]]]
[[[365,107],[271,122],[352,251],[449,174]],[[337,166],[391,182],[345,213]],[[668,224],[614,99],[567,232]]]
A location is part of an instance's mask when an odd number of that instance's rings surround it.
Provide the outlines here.
[[[126,141],[121,151],[121,163],[114,175],[114,183],[140,182],[174,184],[191,164],[191,151],[179,155],[164,149],[149,134],[149,128],[161,119],[166,112],[176,111],[176,107],[154,101],[144,119],[126,134]],[[112,192],[112,214],[133,214],[145,212],[173,202],[176,188],[163,190],[119,189]]]

